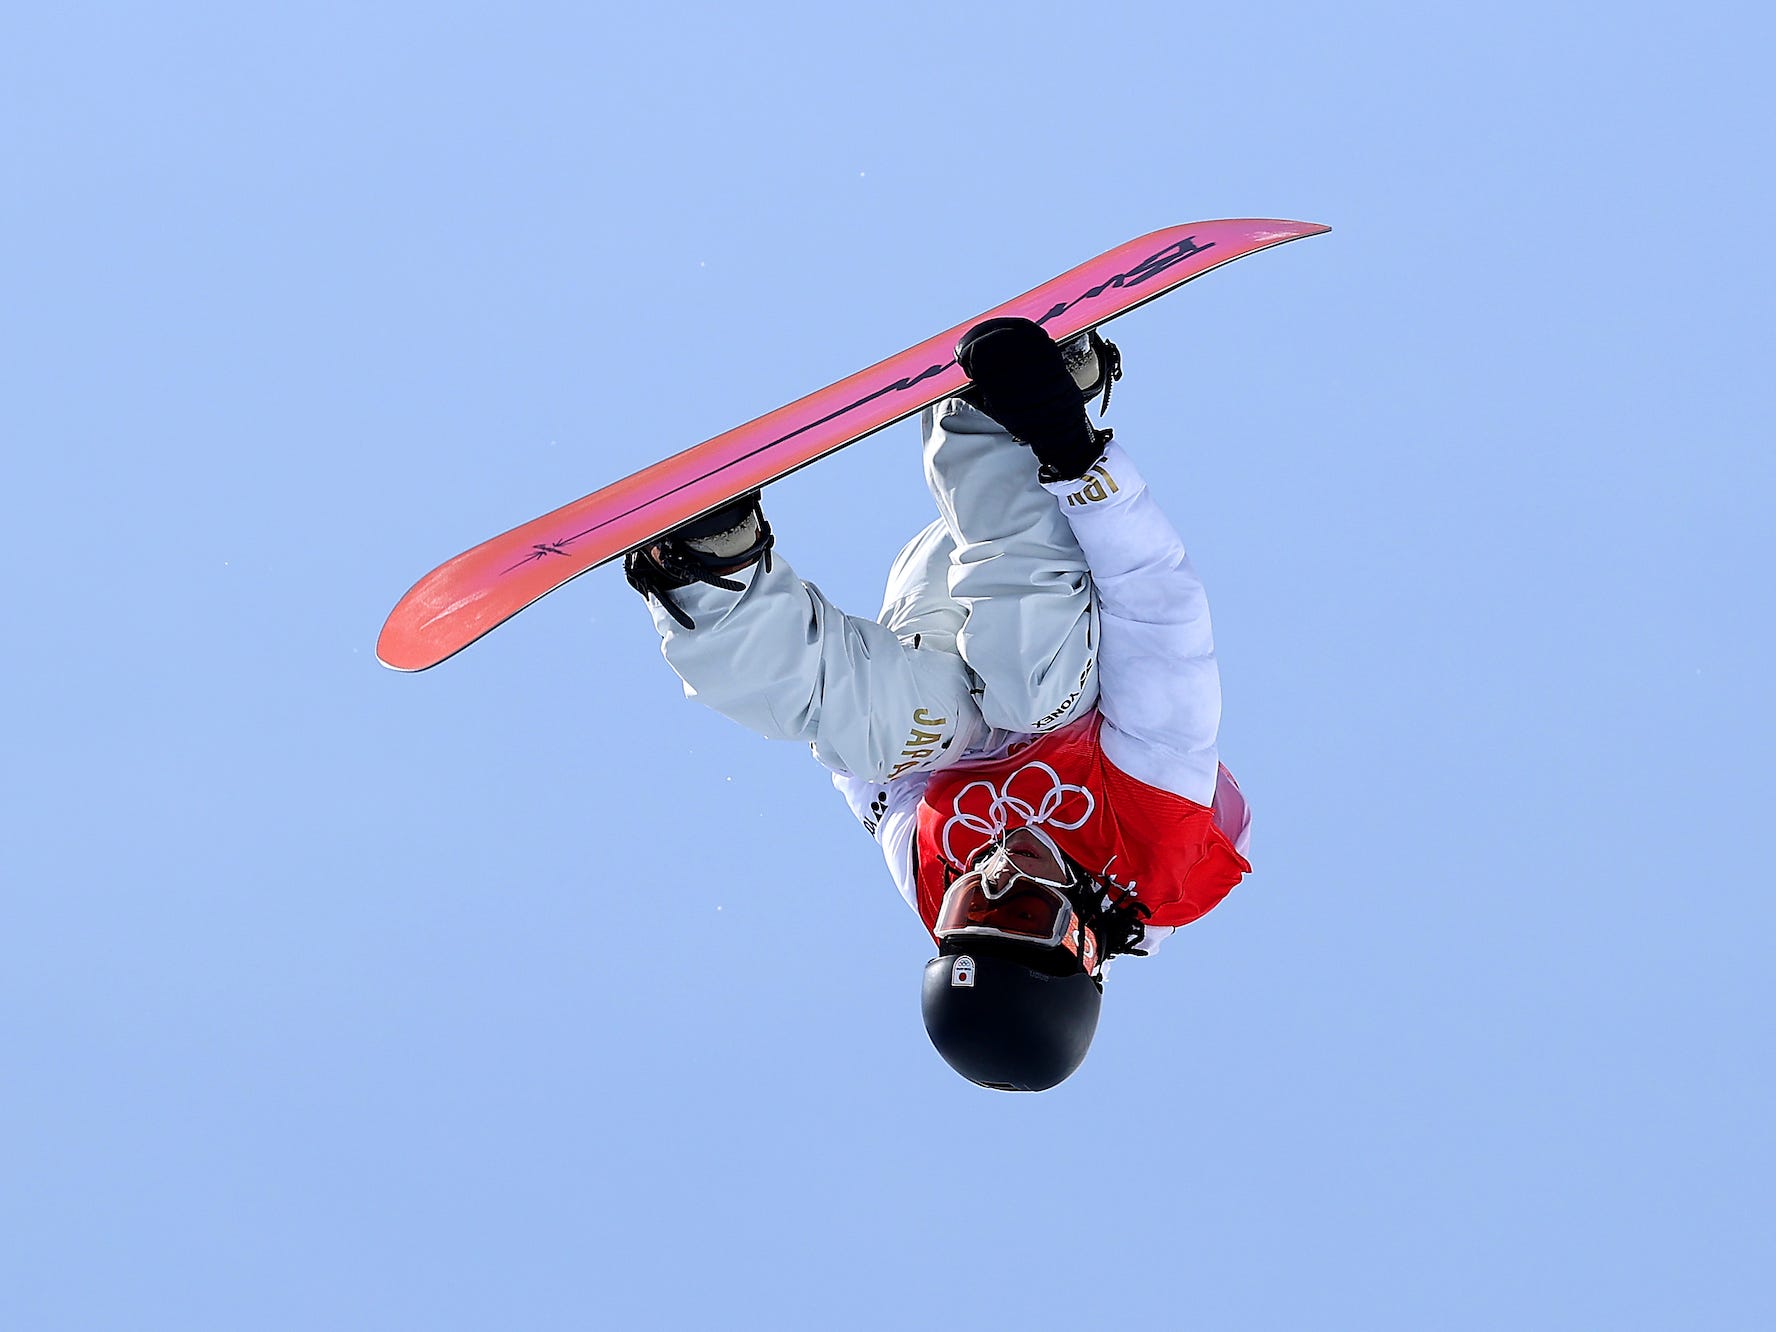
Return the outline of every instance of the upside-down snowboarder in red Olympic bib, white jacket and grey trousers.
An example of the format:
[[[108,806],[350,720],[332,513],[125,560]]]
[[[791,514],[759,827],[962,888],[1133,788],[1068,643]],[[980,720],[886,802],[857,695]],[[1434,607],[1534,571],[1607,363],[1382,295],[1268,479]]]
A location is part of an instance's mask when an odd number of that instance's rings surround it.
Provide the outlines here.
[[[938,1053],[1044,1090],[1085,1058],[1110,957],[1149,954],[1250,870],[1250,821],[1217,757],[1202,584],[1087,410],[1108,407],[1115,346],[1000,318],[955,355],[971,387],[920,419],[938,520],[877,620],[796,577],[757,492],[625,574],[687,694],[833,771],[938,945]]]

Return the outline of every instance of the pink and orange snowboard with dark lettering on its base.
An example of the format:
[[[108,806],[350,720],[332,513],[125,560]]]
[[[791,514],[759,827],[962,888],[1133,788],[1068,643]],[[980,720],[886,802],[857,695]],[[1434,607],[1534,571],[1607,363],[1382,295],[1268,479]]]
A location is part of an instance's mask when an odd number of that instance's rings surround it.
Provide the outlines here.
[[[1066,341],[1231,259],[1321,231],[1328,227],[1243,218],[1167,227],[1119,245],[900,355],[439,565],[389,613],[377,657],[398,671],[437,666],[588,568],[948,398],[968,384],[955,341],[980,320],[1023,314]]]

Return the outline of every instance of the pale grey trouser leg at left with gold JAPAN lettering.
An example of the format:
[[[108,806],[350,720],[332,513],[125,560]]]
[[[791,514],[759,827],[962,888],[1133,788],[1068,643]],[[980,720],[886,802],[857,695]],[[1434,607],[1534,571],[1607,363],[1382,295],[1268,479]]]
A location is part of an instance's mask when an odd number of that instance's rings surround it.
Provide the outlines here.
[[[741,591],[673,593],[696,629],[648,602],[687,696],[865,781],[943,767],[989,733],[954,652],[845,614],[778,556],[733,577]]]

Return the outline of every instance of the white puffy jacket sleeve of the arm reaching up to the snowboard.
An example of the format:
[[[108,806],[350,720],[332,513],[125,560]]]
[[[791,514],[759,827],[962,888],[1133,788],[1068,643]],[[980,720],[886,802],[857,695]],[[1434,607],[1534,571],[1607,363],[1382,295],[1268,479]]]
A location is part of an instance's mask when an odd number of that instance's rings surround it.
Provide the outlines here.
[[[1220,671],[1208,597],[1177,529],[1115,442],[1083,478],[1048,490],[1098,588],[1105,757],[1149,787],[1211,805]]]

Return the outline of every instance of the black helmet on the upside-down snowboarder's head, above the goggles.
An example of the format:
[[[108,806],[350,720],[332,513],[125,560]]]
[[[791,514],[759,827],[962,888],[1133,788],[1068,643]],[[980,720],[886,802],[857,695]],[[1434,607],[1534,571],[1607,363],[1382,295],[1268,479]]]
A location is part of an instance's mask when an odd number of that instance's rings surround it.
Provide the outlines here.
[[[1066,1080],[1092,1044],[1103,991],[1058,948],[979,938],[945,940],[925,963],[925,1034],[970,1082],[1043,1092]]]

